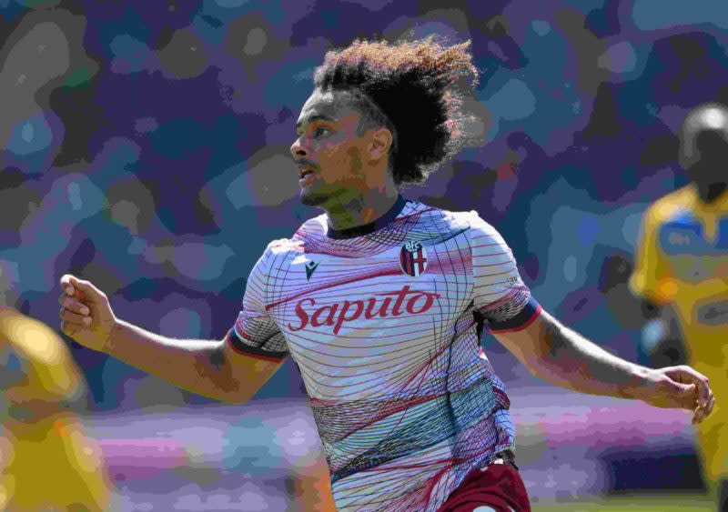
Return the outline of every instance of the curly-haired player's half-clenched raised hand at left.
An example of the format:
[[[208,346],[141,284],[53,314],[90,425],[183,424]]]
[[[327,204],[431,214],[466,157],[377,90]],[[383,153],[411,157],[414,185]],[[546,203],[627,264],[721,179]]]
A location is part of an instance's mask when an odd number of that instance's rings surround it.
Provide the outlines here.
[[[61,277],[61,330],[88,348],[104,351],[116,325],[106,294],[88,281],[66,274]]]

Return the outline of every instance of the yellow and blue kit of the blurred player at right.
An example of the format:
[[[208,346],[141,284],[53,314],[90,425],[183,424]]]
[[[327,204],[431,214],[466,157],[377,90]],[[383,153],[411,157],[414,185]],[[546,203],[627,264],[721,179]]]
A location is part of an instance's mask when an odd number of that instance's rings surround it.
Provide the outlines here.
[[[677,316],[691,366],[716,398],[698,427],[708,477],[728,476],[728,192],[706,205],[685,186],[650,206],[632,291]]]

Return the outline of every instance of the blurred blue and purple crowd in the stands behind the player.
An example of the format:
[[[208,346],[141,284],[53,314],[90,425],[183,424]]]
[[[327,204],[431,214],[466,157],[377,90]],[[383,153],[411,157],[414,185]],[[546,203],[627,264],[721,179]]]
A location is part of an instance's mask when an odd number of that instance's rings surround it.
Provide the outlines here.
[[[440,34],[472,41],[480,142],[404,195],[477,210],[543,306],[634,359],[641,319],[625,282],[642,212],[686,183],[683,115],[728,100],[724,5],[650,5],[0,3],[0,262],[15,269],[15,304],[57,326],[57,279],[73,272],[122,318],[221,338],[268,242],[319,214],[298,203],[288,146],[324,53]],[[40,51],[49,27],[67,44]],[[45,55],[68,64],[51,75]],[[94,407],[144,405],[125,384],[144,374],[74,354]],[[506,361],[509,386],[539,385]],[[153,387],[150,401],[178,395]],[[292,364],[261,392],[300,394]]]

